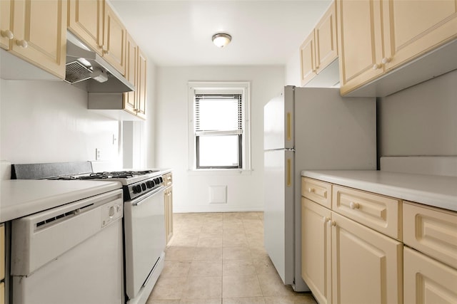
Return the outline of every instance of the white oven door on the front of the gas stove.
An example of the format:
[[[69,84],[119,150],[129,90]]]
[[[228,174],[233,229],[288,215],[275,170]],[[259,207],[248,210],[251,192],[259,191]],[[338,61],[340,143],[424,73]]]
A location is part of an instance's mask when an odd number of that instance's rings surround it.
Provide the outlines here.
[[[148,284],[165,251],[164,189],[159,187],[124,203],[126,293],[130,299]]]

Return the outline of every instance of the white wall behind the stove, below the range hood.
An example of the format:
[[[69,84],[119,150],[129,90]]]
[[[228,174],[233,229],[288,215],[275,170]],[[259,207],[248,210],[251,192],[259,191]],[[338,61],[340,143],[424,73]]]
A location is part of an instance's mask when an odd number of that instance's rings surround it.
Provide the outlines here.
[[[119,123],[87,110],[87,93],[57,80],[0,79],[0,159],[119,164]],[[116,142],[113,144],[113,135]]]

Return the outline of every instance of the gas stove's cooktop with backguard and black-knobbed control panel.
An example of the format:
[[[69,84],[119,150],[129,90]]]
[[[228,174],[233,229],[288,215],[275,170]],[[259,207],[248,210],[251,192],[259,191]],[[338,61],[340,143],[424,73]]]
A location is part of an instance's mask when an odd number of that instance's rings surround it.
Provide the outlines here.
[[[160,170],[126,170],[113,172],[91,172],[88,162],[51,164],[13,164],[11,179],[53,180],[99,180],[120,182],[124,189],[124,201],[129,201],[164,187]],[[74,173],[84,172],[84,173]]]

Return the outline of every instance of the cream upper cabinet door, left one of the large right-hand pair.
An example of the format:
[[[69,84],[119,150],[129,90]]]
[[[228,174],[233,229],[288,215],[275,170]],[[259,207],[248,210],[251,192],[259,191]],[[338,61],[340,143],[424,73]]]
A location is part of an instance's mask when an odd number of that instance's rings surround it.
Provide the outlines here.
[[[341,95],[383,73],[381,1],[336,0]]]

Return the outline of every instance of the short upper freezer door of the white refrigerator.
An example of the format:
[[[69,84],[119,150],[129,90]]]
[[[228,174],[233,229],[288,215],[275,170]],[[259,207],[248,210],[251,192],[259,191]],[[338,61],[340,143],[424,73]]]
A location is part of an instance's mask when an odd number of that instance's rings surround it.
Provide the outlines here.
[[[263,108],[263,150],[293,149],[293,87]]]

